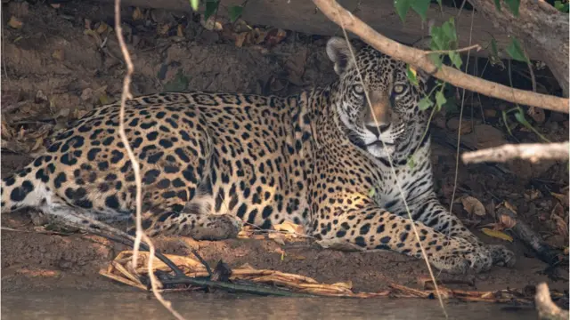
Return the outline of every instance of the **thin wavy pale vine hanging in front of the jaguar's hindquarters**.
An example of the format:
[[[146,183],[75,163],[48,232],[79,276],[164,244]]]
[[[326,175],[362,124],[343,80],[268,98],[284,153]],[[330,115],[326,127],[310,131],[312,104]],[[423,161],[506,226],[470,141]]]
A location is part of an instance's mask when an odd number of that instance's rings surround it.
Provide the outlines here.
[[[136,185],[136,236],[134,238],[134,248],[133,248],[133,266],[136,266],[136,260],[138,258],[138,251],[141,245],[142,239],[149,245],[149,252],[151,257],[155,255],[154,245],[151,243],[151,239],[144,233],[142,230],[142,181],[141,181],[141,173],[139,168],[139,163],[136,161],[134,157],[133,149],[128,143],[126,139],[125,133],[125,103],[127,99],[131,99],[132,95],[129,90],[131,84],[131,75],[133,75],[134,67],[133,61],[131,60],[131,56],[126,49],[125,39],[123,37],[123,28],[121,28],[121,16],[120,16],[120,0],[115,0],[115,32],[117,33],[118,44],[121,47],[121,52],[123,53],[123,57],[125,58],[126,62],[126,75],[123,81],[123,92],[121,94],[121,105],[120,105],[120,112],[119,112],[119,124],[118,124],[118,132],[123,141],[123,144],[126,148],[126,153],[128,154],[129,160],[133,166],[134,171],[134,183]],[[167,308],[173,316],[177,319],[184,319],[178,312],[176,312],[172,306],[170,301],[165,300],[162,295],[159,293],[159,279],[154,276],[152,273],[152,262],[154,259],[148,260],[148,269],[149,269],[149,278],[151,279],[151,286],[152,286],[152,293],[154,296],[159,300],[159,302]]]

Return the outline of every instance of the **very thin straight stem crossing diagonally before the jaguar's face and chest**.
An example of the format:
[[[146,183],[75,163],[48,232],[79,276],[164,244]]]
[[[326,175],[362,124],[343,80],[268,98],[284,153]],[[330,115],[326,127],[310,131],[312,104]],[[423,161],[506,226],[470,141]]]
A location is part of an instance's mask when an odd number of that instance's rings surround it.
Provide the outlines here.
[[[353,47],[350,44],[350,41],[348,40],[348,34],[346,34],[346,28],[344,25],[344,20],[340,20],[339,24],[340,24],[340,27],[342,28],[344,35],[345,35],[345,40],[346,40],[346,43],[348,44],[348,50],[350,51],[351,58],[354,61],[354,66],[356,66],[356,71],[358,72],[358,77],[361,79],[361,84],[362,84],[362,88],[364,88],[364,96],[366,97],[366,102],[368,103],[368,107],[372,109],[371,97],[370,97],[370,94],[368,92],[368,88],[366,88],[366,86],[364,85],[364,81],[363,81],[364,78],[362,77],[362,73],[360,71],[360,68],[358,68],[358,64],[356,63],[356,57],[354,55]],[[376,125],[376,128],[378,129],[378,131],[380,131],[380,125],[378,123],[378,119],[376,118],[376,115],[374,115],[374,112],[371,112],[371,115],[372,115],[372,120],[374,120],[374,124]],[[392,170],[392,174],[394,174],[395,184],[396,184],[396,187],[398,188],[398,192],[402,196],[403,205],[406,209],[406,212],[408,213],[408,218],[411,221],[411,229],[413,230],[413,234],[416,237],[416,241],[419,244],[419,250],[421,250],[421,256],[426,261],[429,276],[431,276],[431,279],[434,282],[434,288],[436,289],[437,300],[439,300],[439,304],[442,307],[442,310],[444,310],[445,318],[448,319],[449,316],[447,315],[447,310],[445,309],[445,306],[444,306],[444,299],[442,297],[441,292],[439,292],[439,288],[437,287],[436,276],[434,276],[434,272],[431,269],[431,265],[429,264],[428,254],[426,253],[426,250],[425,250],[423,244],[421,244],[421,241],[419,240],[419,232],[418,232],[418,229],[416,228],[416,224],[413,222],[413,219],[411,218],[410,207],[408,206],[408,202],[406,201],[405,196],[403,196],[403,189],[402,189],[402,186],[400,184],[400,180],[398,180],[398,176],[395,172],[394,162],[392,161],[392,156],[390,156],[390,153],[388,152],[388,150],[386,148],[386,142],[384,142],[384,140],[380,140],[380,142],[382,142],[382,148],[384,148],[384,152],[387,154],[388,163],[390,164],[390,169]]]

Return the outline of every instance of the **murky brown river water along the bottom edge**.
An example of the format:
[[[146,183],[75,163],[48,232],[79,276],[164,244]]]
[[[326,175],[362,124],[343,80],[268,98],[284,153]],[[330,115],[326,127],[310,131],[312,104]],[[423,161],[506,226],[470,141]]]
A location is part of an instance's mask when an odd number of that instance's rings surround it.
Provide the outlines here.
[[[196,319],[444,319],[437,300],[274,298],[171,293],[174,308]],[[144,292],[3,292],[2,319],[174,319]],[[537,319],[533,308],[448,303],[450,319]]]

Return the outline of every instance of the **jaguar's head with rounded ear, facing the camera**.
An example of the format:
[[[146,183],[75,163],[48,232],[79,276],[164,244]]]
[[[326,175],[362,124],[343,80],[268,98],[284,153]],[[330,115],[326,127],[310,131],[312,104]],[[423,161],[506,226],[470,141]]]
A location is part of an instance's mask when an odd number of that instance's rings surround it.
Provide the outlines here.
[[[428,112],[418,107],[428,75],[418,71],[419,85],[411,84],[405,63],[369,45],[353,46],[354,63],[349,45],[339,37],[330,38],[327,44],[339,76],[333,103],[341,126],[354,144],[372,156],[384,158],[388,153],[400,159],[415,149],[428,125]]]

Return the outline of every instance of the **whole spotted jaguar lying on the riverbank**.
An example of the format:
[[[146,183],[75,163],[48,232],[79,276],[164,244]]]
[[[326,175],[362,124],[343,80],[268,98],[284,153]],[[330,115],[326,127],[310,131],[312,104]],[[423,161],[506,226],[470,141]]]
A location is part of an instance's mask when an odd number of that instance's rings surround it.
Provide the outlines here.
[[[428,112],[419,108],[431,76],[418,70],[411,82],[403,61],[340,37],[326,53],[338,77],[287,97],[126,100],[147,235],[223,240],[244,224],[289,220],[331,248],[416,258],[423,248],[432,266],[453,274],[513,266],[513,252],[482,243],[437,199]],[[119,111],[119,102],[95,108],[54,134],[45,153],[2,180],[2,213],[36,208],[79,226],[88,220],[77,212],[132,221],[134,167]]]

